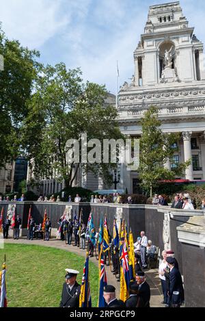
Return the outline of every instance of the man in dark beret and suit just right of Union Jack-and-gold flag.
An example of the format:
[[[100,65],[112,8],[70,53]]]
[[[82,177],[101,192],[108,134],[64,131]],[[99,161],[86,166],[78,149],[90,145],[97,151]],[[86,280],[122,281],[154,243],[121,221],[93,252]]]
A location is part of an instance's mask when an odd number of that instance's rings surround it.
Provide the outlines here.
[[[143,271],[137,272],[136,281],[139,285],[138,296],[141,300],[140,307],[150,307],[150,285],[146,282]]]

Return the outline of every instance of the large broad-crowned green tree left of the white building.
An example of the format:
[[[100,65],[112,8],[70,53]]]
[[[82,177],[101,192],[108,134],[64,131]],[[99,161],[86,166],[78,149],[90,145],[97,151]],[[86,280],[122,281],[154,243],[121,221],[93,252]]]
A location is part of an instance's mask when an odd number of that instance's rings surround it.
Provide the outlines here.
[[[21,130],[22,149],[33,159],[36,179],[58,177],[72,186],[79,162],[66,161],[66,142],[87,134],[87,140],[124,138],[116,122],[117,112],[105,106],[107,90],[87,81],[81,70],[67,70],[65,64],[42,66],[35,91],[28,104],[29,113]],[[115,164],[83,164],[82,168],[99,174],[111,183],[110,170]]]

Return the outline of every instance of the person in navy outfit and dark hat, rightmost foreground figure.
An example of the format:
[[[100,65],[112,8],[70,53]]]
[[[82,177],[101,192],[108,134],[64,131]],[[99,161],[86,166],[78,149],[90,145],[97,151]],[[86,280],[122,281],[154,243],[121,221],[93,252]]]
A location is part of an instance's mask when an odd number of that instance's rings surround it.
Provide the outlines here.
[[[183,293],[183,285],[182,285],[182,277],[179,270],[174,266],[175,260],[174,257],[167,257],[167,264],[170,269],[169,279],[169,301],[171,307],[180,307],[182,304],[182,293]]]

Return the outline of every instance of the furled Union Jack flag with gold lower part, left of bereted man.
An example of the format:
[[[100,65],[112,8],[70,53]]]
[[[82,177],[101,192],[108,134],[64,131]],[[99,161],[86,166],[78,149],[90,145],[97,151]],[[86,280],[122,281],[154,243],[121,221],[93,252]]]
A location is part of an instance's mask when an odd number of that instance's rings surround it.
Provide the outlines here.
[[[128,260],[128,243],[126,238],[126,228],[124,226],[124,244],[122,244],[122,256],[120,267],[120,300],[126,301],[129,297],[128,286],[130,282],[129,260]]]

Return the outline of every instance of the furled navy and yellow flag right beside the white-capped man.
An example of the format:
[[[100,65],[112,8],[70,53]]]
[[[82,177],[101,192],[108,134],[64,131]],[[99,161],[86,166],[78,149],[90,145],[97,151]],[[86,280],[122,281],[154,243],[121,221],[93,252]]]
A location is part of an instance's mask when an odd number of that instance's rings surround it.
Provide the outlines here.
[[[79,307],[92,307],[89,283],[89,255],[86,253],[85,266],[83,268],[83,278],[81,284],[81,294],[79,298]]]

